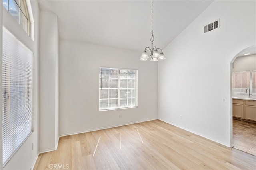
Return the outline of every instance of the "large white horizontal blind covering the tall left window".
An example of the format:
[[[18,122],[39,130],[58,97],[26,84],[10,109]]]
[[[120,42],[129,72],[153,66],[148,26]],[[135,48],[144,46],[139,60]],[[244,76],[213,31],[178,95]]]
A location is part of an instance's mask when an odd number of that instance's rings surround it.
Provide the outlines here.
[[[3,29],[2,151],[3,164],[32,132],[34,53]]]

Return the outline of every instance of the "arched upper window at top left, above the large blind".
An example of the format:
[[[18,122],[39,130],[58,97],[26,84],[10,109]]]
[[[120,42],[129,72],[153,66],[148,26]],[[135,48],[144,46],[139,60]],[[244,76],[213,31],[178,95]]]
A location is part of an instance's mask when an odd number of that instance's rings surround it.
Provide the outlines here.
[[[3,0],[3,5],[20,24],[20,26],[30,35],[30,20],[28,8],[25,0]]]

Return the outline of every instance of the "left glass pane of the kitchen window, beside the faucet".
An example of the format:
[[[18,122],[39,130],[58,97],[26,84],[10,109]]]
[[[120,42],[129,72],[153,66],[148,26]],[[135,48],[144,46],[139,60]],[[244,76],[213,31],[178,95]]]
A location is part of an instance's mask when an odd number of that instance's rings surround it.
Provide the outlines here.
[[[250,72],[236,72],[232,77],[232,92],[245,93],[246,88],[250,88]]]

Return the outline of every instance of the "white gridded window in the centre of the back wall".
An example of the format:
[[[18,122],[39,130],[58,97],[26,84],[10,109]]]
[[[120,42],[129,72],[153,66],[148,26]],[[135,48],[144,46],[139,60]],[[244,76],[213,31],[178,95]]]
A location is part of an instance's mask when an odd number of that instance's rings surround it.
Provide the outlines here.
[[[100,68],[99,110],[137,106],[137,70]]]

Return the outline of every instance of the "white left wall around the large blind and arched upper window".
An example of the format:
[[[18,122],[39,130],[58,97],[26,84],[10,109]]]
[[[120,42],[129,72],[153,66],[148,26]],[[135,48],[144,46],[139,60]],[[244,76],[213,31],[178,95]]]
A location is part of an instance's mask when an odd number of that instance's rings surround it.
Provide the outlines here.
[[[12,34],[14,34],[22,43],[34,51],[34,132],[23,143],[20,149],[14,154],[3,169],[27,170],[33,168],[38,156],[38,25],[39,25],[39,7],[37,1],[31,1],[32,13],[34,16],[34,41],[18,25],[17,21],[3,7],[3,25]],[[1,37],[2,39],[2,37]],[[2,67],[2,66],[1,66]],[[1,68],[2,69],[2,68]],[[34,149],[32,145],[34,144]]]

